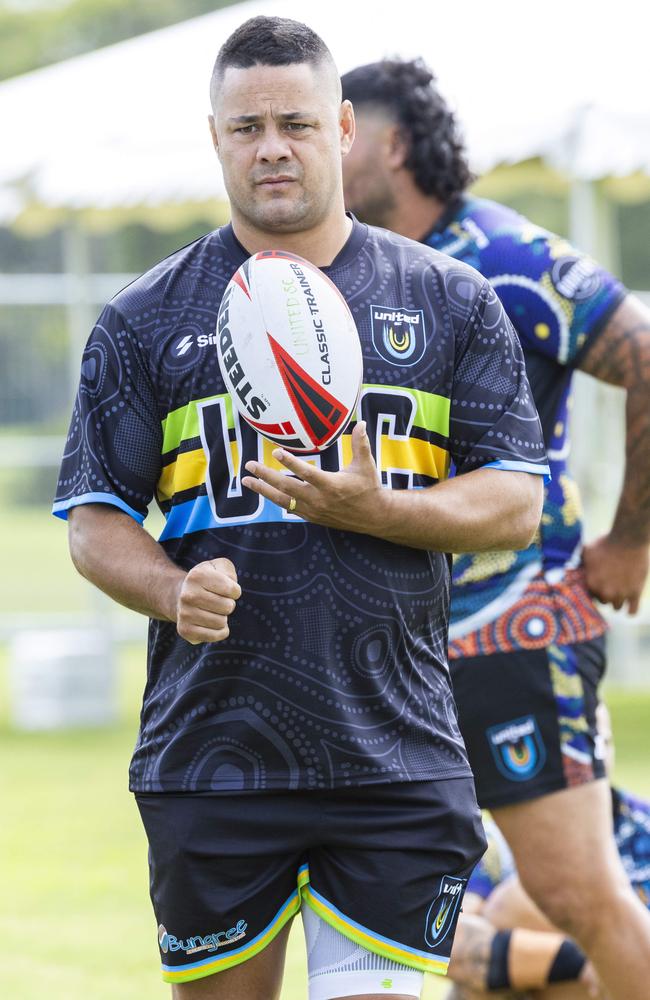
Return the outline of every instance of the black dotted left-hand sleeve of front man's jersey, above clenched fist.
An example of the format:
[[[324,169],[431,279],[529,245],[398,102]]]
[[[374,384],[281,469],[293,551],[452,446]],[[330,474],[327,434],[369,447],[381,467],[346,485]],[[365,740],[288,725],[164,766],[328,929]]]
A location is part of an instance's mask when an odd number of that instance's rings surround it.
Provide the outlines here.
[[[84,351],[52,512],[108,503],[142,522],[160,475],[162,427],[133,331],[111,306]]]

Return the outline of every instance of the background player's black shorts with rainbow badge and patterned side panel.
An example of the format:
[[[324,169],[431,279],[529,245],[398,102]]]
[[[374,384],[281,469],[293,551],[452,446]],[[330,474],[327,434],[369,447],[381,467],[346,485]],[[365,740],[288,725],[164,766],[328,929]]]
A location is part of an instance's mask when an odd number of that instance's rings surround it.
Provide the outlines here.
[[[450,661],[476,794],[514,805],[605,774],[596,735],[605,640]]]

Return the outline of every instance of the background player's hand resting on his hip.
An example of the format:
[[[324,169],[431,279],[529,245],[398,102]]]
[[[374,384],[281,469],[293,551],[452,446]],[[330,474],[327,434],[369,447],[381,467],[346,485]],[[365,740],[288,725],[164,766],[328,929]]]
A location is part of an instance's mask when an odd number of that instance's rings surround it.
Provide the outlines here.
[[[603,535],[582,551],[587,588],[603,604],[618,611],[627,604],[635,615],[648,575],[648,546],[624,545],[611,535]]]

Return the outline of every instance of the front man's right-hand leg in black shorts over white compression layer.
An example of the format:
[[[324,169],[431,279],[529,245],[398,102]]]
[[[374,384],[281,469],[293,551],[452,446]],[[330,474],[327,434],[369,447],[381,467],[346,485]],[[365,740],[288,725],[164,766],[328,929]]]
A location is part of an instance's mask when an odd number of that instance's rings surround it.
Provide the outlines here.
[[[485,847],[471,778],[332,792],[324,817],[302,890],[310,1000],[418,997]]]

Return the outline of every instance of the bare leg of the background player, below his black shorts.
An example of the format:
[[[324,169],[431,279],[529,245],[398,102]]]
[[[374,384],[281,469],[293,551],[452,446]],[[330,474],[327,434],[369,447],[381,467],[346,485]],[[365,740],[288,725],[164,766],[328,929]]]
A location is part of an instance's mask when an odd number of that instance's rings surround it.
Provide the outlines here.
[[[589,955],[612,1000],[650,982],[650,914],[621,864],[603,779],[493,809],[524,889]]]

